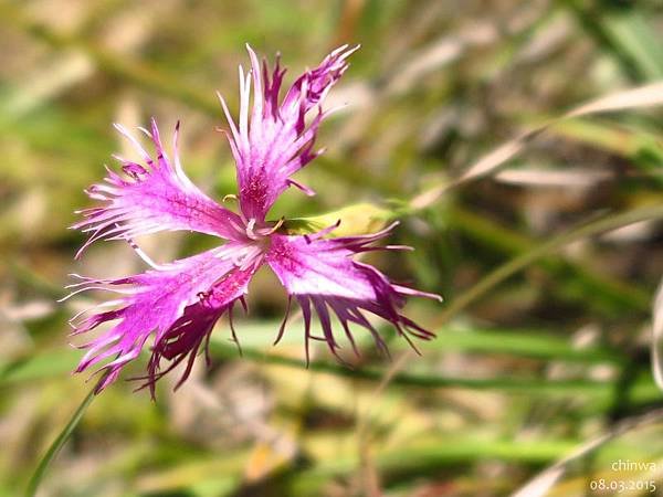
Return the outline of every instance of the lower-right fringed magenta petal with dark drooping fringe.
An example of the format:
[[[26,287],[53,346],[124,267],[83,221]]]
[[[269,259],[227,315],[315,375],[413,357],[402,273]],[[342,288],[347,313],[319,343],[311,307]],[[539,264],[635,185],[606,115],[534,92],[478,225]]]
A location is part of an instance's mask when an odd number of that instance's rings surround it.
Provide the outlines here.
[[[351,256],[376,247],[370,246],[388,234],[389,229],[373,235],[323,240],[314,236],[273,235],[266,262],[288,295],[302,306],[308,359],[308,339],[327,342],[337,356],[338,345],[332,329],[330,313],[339,320],[352,347],[349,324],[366,328],[378,347],[387,351],[378,331],[362,311],[369,311],[391,322],[399,335],[431,339],[433,334],[403,316],[400,308],[407,296],[440,298],[433,294],[394,285],[375,267],[352,261]],[[383,247],[389,250],[389,247]],[[311,336],[312,305],[318,315],[323,337]],[[411,343],[411,341],[410,341]],[[356,349],[355,349],[356,350]]]

